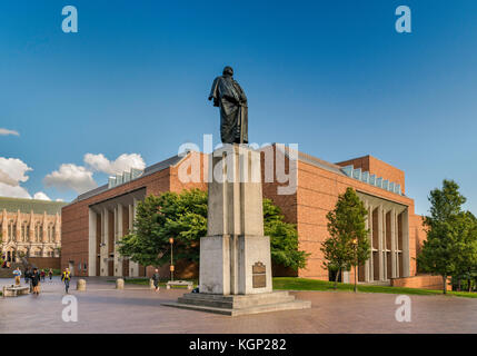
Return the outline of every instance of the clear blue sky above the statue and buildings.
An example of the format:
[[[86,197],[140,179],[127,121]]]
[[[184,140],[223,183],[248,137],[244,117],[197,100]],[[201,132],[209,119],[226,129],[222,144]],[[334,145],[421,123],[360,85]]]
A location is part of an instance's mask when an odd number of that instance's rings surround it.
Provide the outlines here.
[[[78,33],[61,31],[67,4]],[[395,30],[399,4],[413,33]],[[250,141],[329,161],[372,155],[405,170],[420,214],[455,179],[477,214],[476,44],[473,0],[2,1],[0,128],[19,136],[0,136],[0,158],[32,168],[20,182],[31,196],[71,200],[44,177],[86,154],[151,165],[203,134],[218,144],[207,96],[230,65]]]

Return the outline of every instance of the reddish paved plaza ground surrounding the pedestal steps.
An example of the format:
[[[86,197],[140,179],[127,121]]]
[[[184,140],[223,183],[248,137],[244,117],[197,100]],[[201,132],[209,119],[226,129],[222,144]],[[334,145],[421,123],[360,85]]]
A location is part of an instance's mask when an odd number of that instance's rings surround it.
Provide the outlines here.
[[[476,333],[477,299],[411,296],[411,322],[395,318],[397,295],[298,291],[311,309],[228,317],[161,306],[186,290],[126,285],[116,290],[103,278],[88,278],[78,298],[78,322],[61,314],[63,285],[58,277],[42,284],[40,296],[0,298],[0,333]],[[0,287],[11,284],[1,279]]]

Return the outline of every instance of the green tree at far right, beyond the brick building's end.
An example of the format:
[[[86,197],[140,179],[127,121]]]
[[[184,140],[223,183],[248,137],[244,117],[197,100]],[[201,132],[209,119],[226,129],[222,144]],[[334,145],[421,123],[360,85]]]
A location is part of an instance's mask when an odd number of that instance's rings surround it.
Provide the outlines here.
[[[443,291],[447,293],[447,278],[458,275],[465,267],[463,251],[471,239],[473,217],[461,210],[466,198],[454,180],[444,180],[443,189],[430,191],[430,215],[424,218],[427,239],[417,258],[419,268],[443,277]]]

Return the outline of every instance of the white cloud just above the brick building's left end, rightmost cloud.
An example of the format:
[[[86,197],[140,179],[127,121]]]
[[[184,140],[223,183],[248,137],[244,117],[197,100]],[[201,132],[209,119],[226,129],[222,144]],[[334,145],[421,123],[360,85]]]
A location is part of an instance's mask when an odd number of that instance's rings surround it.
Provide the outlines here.
[[[108,175],[122,174],[131,168],[145,169],[146,162],[141,155],[138,154],[122,154],[116,160],[109,160],[105,155],[85,155],[85,162],[95,171],[101,171]]]

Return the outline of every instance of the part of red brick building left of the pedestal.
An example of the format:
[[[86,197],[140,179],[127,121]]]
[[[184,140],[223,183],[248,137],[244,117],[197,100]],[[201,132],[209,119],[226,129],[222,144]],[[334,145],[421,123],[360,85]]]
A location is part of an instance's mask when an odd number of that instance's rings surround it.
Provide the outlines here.
[[[190,184],[178,179],[180,167],[191,161],[206,167],[203,158],[197,152],[175,156],[143,171],[118,175],[107,185],[78,196],[62,210],[61,267],[69,267],[76,276],[146,276],[145,266],[119,256],[116,241],[132,228],[137,202],[146,196],[206,189],[203,176]]]

